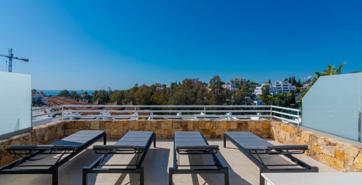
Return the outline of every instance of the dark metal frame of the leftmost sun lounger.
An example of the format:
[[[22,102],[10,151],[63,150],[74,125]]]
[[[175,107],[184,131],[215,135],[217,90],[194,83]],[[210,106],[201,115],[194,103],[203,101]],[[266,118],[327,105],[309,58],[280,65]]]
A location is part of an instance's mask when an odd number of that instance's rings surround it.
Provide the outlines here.
[[[25,150],[22,153],[16,153],[15,151],[9,150],[10,153],[18,155],[22,158],[15,160],[14,162],[11,162],[3,167],[0,168],[0,174],[51,174],[52,175],[52,185],[58,185],[58,168],[62,166],[62,164],[66,163],[68,160],[79,154],[84,149],[87,149],[90,145],[92,145],[94,142],[100,140],[103,137],[103,144],[106,145],[106,133],[103,133],[102,135],[90,140],[87,144],[85,144],[82,147],[76,148],[76,149],[29,149]],[[36,155],[54,155],[54,154],[61,154],[59,159],[55,162],[55,164],[52,165],[21,165],[22,163],[26,162],[27,160],[35,160],[31,159],[35,157]],[[63,157],[65,154],[66,157]],[[21,156],[25,155],[25,156]],[[45,157],[44,157],[45,158]],[[40,160],[43,158],[39,158],[36,160]],[[49,168],[39,168],[39,169],[12,169],[14,167],[49,167]]]

